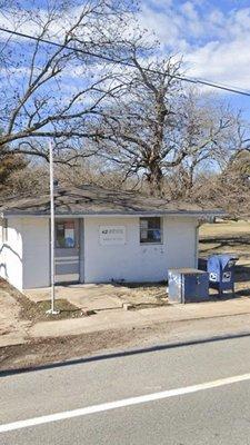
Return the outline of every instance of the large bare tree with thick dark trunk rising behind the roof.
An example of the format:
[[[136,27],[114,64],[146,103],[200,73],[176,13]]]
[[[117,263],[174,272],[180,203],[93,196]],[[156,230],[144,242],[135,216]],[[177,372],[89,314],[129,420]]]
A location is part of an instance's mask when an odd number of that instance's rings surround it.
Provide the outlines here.
[[[211,154],[221,154],[231,117],[227,109],[214,115],[211,106],[182,89],[181,61],[170,57],[146,65],[134,49],[133,63],[136,72],[129,73],[132,80],[110,125],[112,142],[101,142],[103,157],[120,165],[126,177],[143,175],[151,194],[161,195],[169,170],[188,160],[192,169]]]

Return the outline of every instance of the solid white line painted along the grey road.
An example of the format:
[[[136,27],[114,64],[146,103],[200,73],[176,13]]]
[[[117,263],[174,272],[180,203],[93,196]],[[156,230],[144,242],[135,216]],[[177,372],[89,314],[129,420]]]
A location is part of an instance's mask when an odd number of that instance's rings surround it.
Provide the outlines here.
[[[146,394],[143,396],[123,398],[122,400],[108,402],[100,405],[87,406],[79,409],[66,411],[62,413],[49,414],[48,416],[28,418],[27,421],[12,422],[6,425],[0,425],[0,433],[7,433],[14,429],[28,428],[31,426],[49,424],[51,422],[64,421],[73,417],[81,417],[88,414],[102,413],[110,409],[122,408],[126,406],[139,405],[148,402],[160,400],[174,396],[182,396],[184,394],[197,393],[199,390],[218,388],[233,383],[244,382],[250,379],[250,374],[243,374],[233,377],[221,378],[219,380],[206,382],[199,385],[186,386],[183,388],[168,389],[160,393]]]

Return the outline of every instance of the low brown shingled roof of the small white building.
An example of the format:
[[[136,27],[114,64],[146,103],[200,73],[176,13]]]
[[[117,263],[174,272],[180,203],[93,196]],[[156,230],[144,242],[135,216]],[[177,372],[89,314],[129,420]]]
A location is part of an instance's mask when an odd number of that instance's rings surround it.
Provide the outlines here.
[[[86,185],[81,187],[56,187],[56,215],[221,215],[219,209],[201,207],[190,202],[168,201],[146,197],[133,191],[108,190]],[[0,215],[48,216],[50,214],[50,194],[40,196],[11,196],[0,200]]]

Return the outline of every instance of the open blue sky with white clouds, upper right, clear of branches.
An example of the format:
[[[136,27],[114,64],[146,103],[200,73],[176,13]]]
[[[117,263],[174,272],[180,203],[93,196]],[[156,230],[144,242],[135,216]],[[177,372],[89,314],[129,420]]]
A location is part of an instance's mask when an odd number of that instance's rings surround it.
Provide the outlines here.
[[[143,0],[140,22],[162,53],[183,55],[187,75],[250,91],[249,0]],[[226,96],[250,116],[250,98]]]

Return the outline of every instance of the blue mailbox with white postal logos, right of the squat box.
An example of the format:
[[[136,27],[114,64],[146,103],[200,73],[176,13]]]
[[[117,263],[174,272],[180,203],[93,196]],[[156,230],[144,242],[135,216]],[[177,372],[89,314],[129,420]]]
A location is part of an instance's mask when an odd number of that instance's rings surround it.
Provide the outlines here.
[[[220,295],[224,290],[234,293],[234,266],[239,258],[236,255],[211,255],[208,257],[207,270],[209,273],[209,284],[217,289]]]

